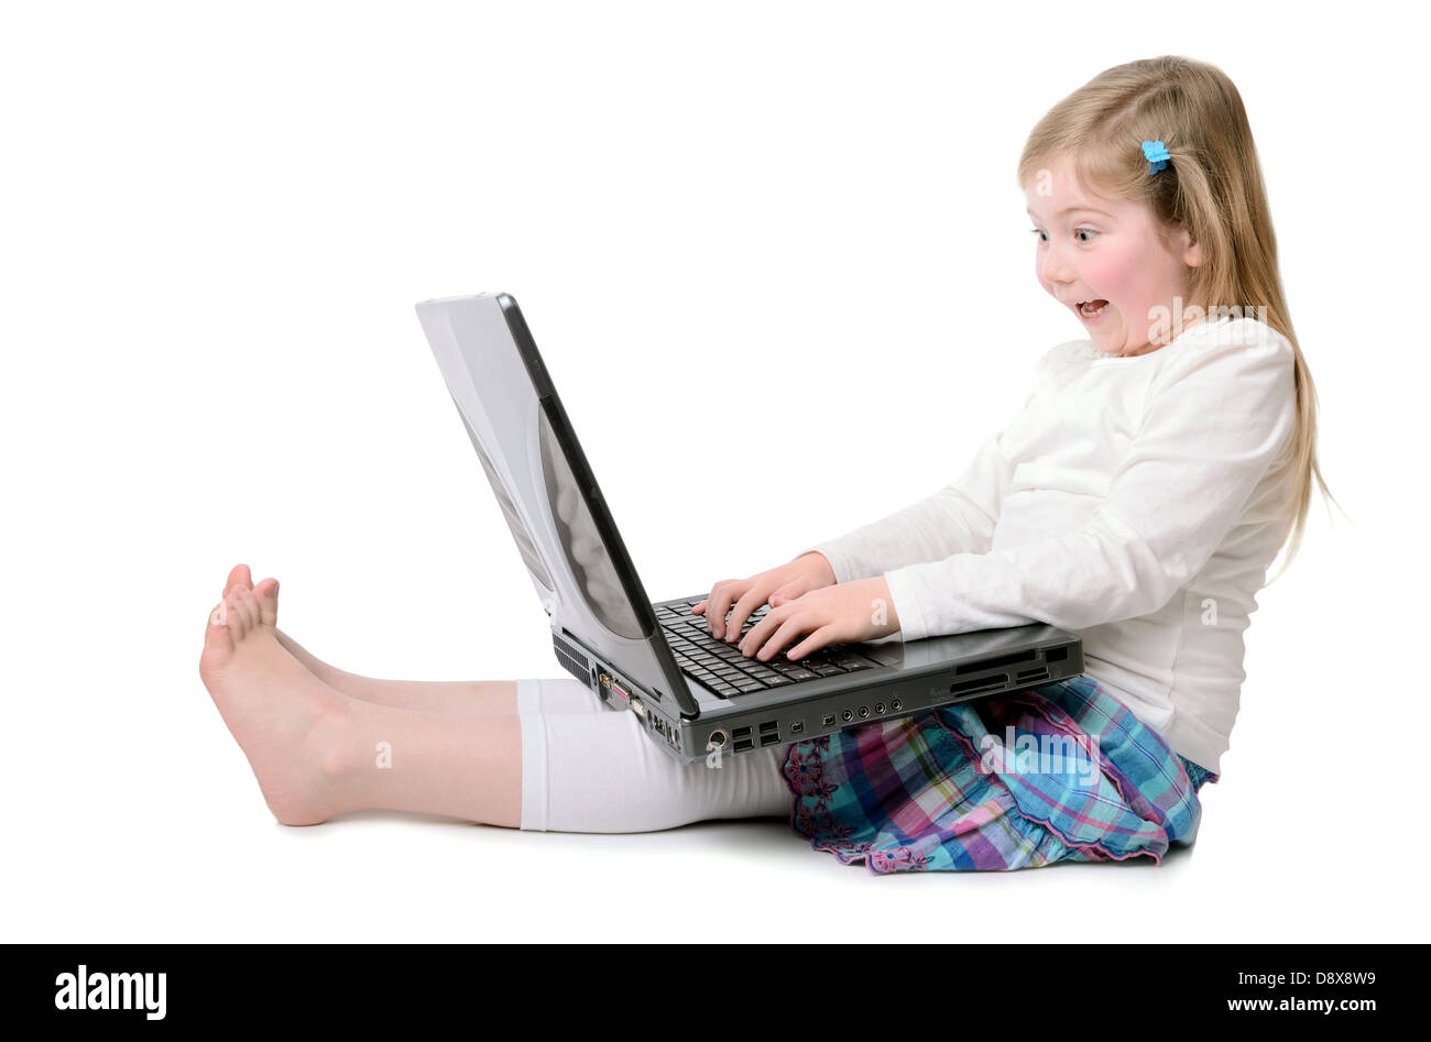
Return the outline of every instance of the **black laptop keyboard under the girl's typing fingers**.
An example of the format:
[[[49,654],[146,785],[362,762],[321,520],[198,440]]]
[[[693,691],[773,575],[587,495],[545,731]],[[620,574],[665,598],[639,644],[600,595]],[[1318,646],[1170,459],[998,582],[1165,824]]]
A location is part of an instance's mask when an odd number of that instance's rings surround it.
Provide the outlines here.
[[[767,663],[754,656],[747,658],[736,647],[738,640],[728,644],[724,640],[716,640],[707,633],[705,615],[691,614],[691,607],[703,600],[705,598],[694,597],[688,601],[653,607],[657,621],[665,631],[665,643],[671,646],[671,653],[675,656],[675,664],[681,667],[681,673],[727,698],[798,684],[806,680],[870,670],[887,664],[881,660],[887,660],[892,654],[894,657],[899,654],[879,648],[869,648],[864,654],[859,654],[847,647],[836,646],[819,648],[798,661],[790,661],[786,658],[786,651],[804,640],[804,637],[798,637],[780,648]],[[770,605],[761,604],[740,628],[741,637],[750,633],[766,617],[767,611],[770,611]]]

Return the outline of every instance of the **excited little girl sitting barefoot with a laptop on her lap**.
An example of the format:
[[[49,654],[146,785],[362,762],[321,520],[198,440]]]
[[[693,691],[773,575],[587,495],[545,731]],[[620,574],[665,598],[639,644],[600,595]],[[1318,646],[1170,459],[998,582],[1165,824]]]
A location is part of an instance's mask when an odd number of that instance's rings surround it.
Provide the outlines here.
[[[953,484],[694,605],[768,660],[1047,621],[1085,676],[681,766],[577,680],[369,680],[278,630],[245,565],[200,676],[269,809],[363,807],[532,830],[788,816],[871,872],[1159,863],[1191,844],[1236,717],[1242,633],[1295,557],[1315,458],[1262,175],[1236,87],[1162,57],[1109,69],[1033,129],[1019,182],[1039,283],[1083,326]],[[1322,482],[1322,491],[1327,491]],[[741,637],[760,605],[764,618]],[[1093,770],[1039,750],[1076,749]]]

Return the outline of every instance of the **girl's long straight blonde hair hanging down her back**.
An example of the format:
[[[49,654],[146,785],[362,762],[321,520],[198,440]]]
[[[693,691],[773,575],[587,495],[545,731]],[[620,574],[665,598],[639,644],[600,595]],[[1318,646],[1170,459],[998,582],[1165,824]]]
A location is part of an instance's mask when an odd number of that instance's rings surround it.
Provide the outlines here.
[[[1169,162],[1156,176],[1143,157],[1145,140],[1168,149]],[[1212,316],[1255,305],[1252,313],[1291,341],[1296,431],[1289,449],[1294,481],[1282,504],[1288,520],[1278,542],[1292,535],[1285,571],[1302,542],[1312,478],[1335,500],[1317,464],[1317,388],[1286,311],[1262,167],[1238,89],[1221,69],[1186,57],[1115,66],[1039,120],[1019,157],[1019,185],[1056,156],[1072,160],[1083,185],[1146,203],[1165,235],[1176,228],[1193,235],[1202,263],[1189,272],[1191,311]]]

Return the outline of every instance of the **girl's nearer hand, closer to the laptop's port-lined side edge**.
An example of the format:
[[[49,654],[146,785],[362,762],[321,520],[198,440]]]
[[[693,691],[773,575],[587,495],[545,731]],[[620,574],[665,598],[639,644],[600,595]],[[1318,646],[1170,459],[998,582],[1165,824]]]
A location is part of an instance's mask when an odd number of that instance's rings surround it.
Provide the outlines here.
[[[896,630],[899,617],[890,603],[889,584],[883,575],[876,575],[813,590],[803,597],[771,598],[771,610],[746,634],[740,651],[764,663],[790,641],[809,634],[786,653],[794,660],[829,644],[874,640]]]

